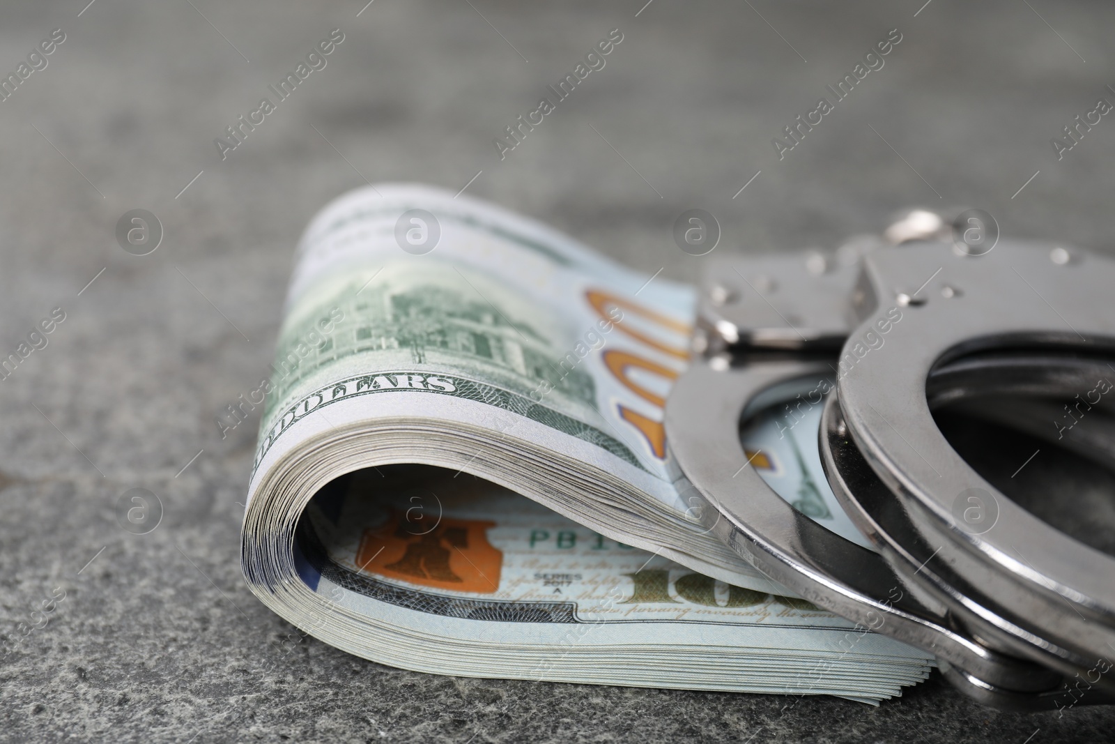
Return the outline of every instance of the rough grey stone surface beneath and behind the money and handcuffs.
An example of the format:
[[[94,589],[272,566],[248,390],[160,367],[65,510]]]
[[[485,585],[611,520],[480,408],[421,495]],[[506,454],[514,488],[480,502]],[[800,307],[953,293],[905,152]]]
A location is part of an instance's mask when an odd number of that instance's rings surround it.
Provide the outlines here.
[[[0,740],[1109,741],[1111,709],[997,713],[939,678],[870,708],[435,677],[284,644],[237,567],[256,422],[222,441],[214,417],[265,374],[306,222],[365,178],[483,171],[468,193],[648,277],[699,271],[670,235],[690,207],[720,221],[718,250],[833,247],[909,204],[1109,250],[1115,122],[1060,161],[1049,139],[1115,100],[1115,7],[86,2],[0,8],[4,74],[66,33],[0,103],[0,352],[66,313],[0,381]],[[222,162],[213,139],[333,28],[328,66]],[[493,138],[614,28],[607,66],[501,162]],[[779,162],[772,137],[892,28],[885,66]],[[149,255],[114,236],[132,209],[162,221]],[[148,534],[118,525],[134,487],[164,508]]]

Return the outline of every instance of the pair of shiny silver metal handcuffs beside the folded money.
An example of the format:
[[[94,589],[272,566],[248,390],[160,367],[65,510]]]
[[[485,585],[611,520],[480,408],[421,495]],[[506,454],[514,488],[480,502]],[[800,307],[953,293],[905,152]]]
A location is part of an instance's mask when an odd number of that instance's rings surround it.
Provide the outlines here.
[[[1115,558],[1011,501],[934,421],[960,410],[1039,452],[1115,465],[1115,406],[1093,399],[1115,379],[1115,261],[1006,240],[971,251],[942,233],[855,260],[711,261],[694,359],[667,400],[670,462],[735,552],[932,653],[971,697],[1022,711],[1115,703]],[[792,505],[760,474],[774,466],[740,433],[776,406],[788,414],[779,438],[815,443],[822,485],[857,532],[815,521],[823,504]],[[1087,426],[1056,423],[1077,416]],[[787,431],[808,422],[806,435]]]

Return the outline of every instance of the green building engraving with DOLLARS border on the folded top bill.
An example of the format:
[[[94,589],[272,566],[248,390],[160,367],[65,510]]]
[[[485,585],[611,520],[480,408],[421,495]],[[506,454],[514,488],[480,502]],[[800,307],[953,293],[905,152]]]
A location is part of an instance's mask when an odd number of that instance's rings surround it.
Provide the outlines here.
[[[626,445],[584,421],[599,415],[595,383],[562,366],[560,321],[524,292],[466,272],[473,278],[449,263],[397,261],[367,281],[346,274],[308,294],[278,342],[256,466],[290,424],[320,405],[406,388],[526,416],[646,470]],[[318,373],[334,366],[343,379],[322,383]]]

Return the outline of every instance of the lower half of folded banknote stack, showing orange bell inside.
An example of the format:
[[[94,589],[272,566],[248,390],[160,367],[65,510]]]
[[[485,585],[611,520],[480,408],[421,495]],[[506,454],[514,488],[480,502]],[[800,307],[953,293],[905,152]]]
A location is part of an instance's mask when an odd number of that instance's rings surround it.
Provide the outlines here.
[[[805,600],[726,584],[523,496],[408,465],[334,480],[263,595],[295,625],[397,667],[876,703],[929,657]]]

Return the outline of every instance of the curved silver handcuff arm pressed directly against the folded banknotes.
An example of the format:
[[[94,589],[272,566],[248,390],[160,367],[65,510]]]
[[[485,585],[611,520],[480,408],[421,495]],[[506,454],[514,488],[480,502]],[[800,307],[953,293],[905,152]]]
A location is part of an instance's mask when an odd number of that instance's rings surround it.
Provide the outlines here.
[[[930,650],[997,688],[1056,688],[1059,675],[954,629],[943,608],[919,600],[882,557],[796,511],[748,465],[737,434],[748,402],[776,383],[831,371],[826,363],[718,371],[696,360],[681,376],[667,400],[667,437],[688,484],[711,508],[706,522],[774,580],[865,628]]]

